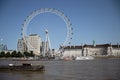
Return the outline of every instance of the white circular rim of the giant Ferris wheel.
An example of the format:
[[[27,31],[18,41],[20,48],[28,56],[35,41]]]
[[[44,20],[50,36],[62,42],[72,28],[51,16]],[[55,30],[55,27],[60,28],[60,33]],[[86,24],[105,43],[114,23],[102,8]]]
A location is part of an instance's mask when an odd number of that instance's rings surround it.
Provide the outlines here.
[[[62,46],[65,46],[65,45],[70,45],[70,41],[72,39],[72,34],[73,34],[73,28],[71,27],[72,24],[70,23],[70,20],[68,19],[68,17],[61,11],[59,10],[56,10],[56,9],[53,9],[53,8],[40,8],[38,10],[35,10],[33,11],[29,16],[27,16],[27,18],[24,20],[24,23],[22,25],[22,37],[24,39],[24,42],[26,44],[26,46],[29,48],[29,47],[32,47],[31,44],[29,44],[27,41],[26,41],[26,31],[27,31],[27,27],[30,23],[30,21],[37,15],[39,14],[42,14],[42,13],[53,13],[53,14],[56,14],[58,15],[60,18],[62,18],[64,20],[64,22],[66,23],[66,26],[67,26],[67,36],[66,36],[66,40],[65,42],[63,43]]]

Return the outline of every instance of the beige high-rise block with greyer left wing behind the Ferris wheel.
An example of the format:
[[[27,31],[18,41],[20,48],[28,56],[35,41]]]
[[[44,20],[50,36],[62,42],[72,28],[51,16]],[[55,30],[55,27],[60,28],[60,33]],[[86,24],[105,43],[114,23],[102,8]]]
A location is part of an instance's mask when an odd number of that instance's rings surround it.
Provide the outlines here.
[[[40,55],[40,46],[42,44],[41,38],[38,34],[31,34],[27,36],[26,43],[23,39],[18,39],[17,48],[20,52],[33,51],[35,55]],[[26,44],[26,45],[25,45]]]

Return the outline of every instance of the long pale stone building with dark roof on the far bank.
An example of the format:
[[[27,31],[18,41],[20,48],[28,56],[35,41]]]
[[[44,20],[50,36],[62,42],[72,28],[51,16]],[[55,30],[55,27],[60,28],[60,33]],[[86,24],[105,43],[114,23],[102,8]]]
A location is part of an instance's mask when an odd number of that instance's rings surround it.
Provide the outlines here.
[[[112,55],[120,56],[119,45],[99,44],[99,45],[83,45],[83,46],[65,46],[63,49],[63,57],[80,57],[80,56],[101,56]]]

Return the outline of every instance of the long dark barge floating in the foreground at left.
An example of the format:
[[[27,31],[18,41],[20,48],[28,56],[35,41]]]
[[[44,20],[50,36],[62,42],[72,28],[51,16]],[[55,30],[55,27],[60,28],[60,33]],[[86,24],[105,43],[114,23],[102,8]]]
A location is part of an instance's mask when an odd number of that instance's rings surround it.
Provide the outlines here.
[[[10,71],[45,71],[43,65],[32,65],[28,63],[23,63],[22,65],[9,64],[7,66],[0,66],[0,70],[10,70]]]

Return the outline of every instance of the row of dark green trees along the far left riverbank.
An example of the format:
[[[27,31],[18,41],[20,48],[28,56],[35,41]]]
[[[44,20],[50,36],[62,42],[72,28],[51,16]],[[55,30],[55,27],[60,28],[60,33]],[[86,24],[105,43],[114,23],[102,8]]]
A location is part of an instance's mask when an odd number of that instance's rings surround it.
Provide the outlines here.
[[[17,51],[13,51],[12,53],[7,52],[5,53],[4,51],[0,52],[0,58],[6,57],[6,58],[12,58],[12,57],[16,57],[16,58],[21,58],[21,57],[34,57],[34,53],[33,51],[30,52],[17,52]]]

